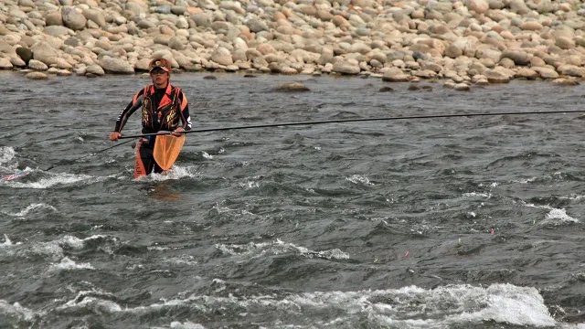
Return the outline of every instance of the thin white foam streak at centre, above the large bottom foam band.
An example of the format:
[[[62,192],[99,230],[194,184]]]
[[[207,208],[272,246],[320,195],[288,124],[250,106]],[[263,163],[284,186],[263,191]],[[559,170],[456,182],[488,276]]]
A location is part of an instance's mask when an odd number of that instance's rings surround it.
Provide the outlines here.
[[[314,251],[304,247],[299,247],[293,243],[282,242],[280,239],[272,242],[254,243],[250,242],[245,245],[224,245],[216,244],[217,249],[224,254],[232,256],[244,256],[250,259],[260,258],[266,255],[279,255],[282,253],[293,252],[306,258],[323,258],[326,260],[348,260],[349,255],[340,249]]]

